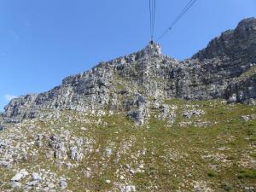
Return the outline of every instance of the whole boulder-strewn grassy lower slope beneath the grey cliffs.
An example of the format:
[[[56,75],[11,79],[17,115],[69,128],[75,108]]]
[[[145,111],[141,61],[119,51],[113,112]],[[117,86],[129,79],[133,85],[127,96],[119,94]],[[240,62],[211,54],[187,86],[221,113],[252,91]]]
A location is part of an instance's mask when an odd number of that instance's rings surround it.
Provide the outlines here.
[[[154,111],[141,128],[125,113],[67,110],[1,131],[0,189],[255,191],[255,107],[166,100],[166,108],[174,119]]]

